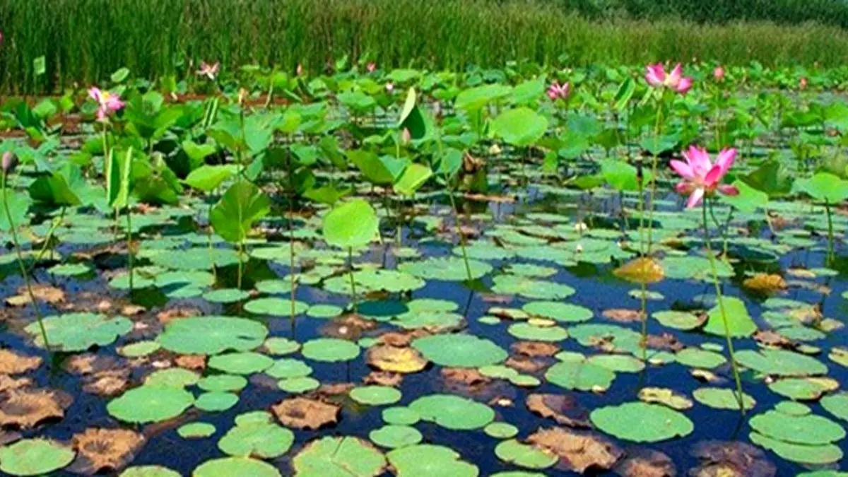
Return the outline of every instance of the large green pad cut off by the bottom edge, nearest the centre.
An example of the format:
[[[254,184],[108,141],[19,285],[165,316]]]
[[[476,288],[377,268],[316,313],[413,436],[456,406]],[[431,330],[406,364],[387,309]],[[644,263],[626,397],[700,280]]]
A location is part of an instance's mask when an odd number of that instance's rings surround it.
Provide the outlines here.
[[[389,452],[387,457],[398,477],[477,477],[480,474],[476,465],[460,460],[460,454],[445,446],[401,447]]]

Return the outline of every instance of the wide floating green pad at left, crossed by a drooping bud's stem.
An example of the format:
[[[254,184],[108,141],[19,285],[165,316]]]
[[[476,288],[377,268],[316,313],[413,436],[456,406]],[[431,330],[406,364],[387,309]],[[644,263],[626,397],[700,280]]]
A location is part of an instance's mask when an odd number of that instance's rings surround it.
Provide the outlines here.
[[[50,346],[61,351],[86,351],[92,346],[111,345],[119,336],[132,329],[125,317],[107,317],[96,313],[66,313],[45,317],[42,322]],[[36,342],[44,346],[38,323],[24,328]]]

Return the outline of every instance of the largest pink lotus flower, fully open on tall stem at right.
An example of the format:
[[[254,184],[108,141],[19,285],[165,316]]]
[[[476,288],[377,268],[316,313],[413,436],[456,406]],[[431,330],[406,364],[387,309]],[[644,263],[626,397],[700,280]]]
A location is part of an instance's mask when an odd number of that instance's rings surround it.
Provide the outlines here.
[[[711,195],[718,191],[725,195],[739,194],[739,189],[732,185],[722,184],[722,177],[728,173],[730,166],[734,165],[736,149],[722,149],[718,153],[716,163],[710,160],[710,154],[706,149],[689,146],[689,152],[683,151],[682,160],[672,160],[671,166],[683,179],[675,187],[678,194],[689,194],[686,208],[691,209],[700,204],[705,195]]]

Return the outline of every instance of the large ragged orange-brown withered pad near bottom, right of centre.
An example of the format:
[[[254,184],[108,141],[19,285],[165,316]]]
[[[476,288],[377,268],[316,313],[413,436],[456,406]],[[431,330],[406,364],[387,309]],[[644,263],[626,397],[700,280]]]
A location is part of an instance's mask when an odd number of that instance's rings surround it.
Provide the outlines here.
[[[583,474],[588,469],[611,469],[623,455],[602,435],[555,427],[538,429],[527,442],[548,449],[560,457],[556,467]]]

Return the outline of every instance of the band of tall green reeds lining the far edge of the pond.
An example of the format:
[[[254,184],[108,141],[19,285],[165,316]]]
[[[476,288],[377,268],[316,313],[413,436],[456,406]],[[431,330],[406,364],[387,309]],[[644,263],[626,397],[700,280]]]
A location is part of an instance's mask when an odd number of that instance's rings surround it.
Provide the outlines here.
[[[676,18],[631,0],[606,8],[583,0],[0,0],[0,88],[58,92],[121,67],[150,80],[181,79],[197,67],[190,59],[201,58],[220,59],[224,70],[255,64],[286,72],[298,64],[320,72],[344,55],[446,70],[510,60],[848,63],[848,4],[817,0],[801,8],[783,0],[769,11],[750,10],[754,20],[746,20],[725,3],[716,4],[716,22],[702,23],[706,14],[686,10],[683,0],[662,7]],[[38,75],[33,65],[42,57]]]

